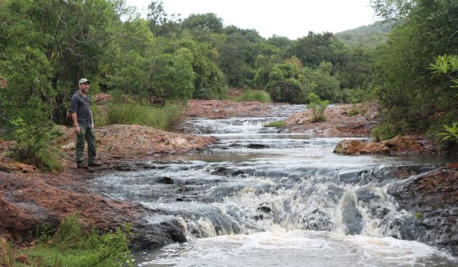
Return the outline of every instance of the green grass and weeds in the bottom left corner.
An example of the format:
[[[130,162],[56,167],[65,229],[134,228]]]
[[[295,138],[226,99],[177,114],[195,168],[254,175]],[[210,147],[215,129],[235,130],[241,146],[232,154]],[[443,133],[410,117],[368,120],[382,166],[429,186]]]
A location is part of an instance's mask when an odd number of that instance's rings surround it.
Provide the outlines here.
[[[34,247],[15,249],[8,245],[6,252],[0,254],[0,266],[131,266],[126,236],[131,235],[129,225],[101,234],[95,229],[86,233],[77,215],[70,215],[53,236],[49,232],[39,235]],[[26,255],[25,264],[14,261],[19,254]]]

